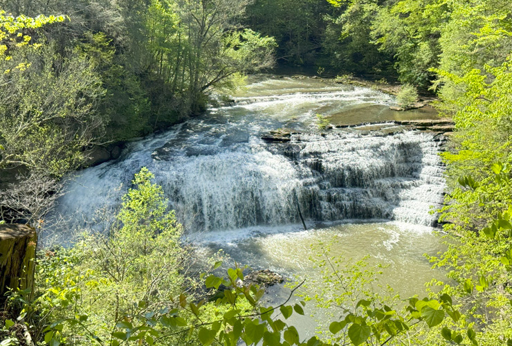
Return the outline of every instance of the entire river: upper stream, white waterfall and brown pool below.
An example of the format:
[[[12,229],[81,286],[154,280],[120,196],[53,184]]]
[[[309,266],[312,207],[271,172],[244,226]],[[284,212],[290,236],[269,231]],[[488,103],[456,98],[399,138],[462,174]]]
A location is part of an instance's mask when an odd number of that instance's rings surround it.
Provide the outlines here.
[[[223,249],[255,269],[312,278],[311,244],[337,239],[334,254],[386,264],[382,282],[402,295],[441,276],[423,253],[443,249],[431,212],[443,201],[442,141],[390,123],[435,112],[391,111],[394,98],[372,89],[269,75],[249,78],[232,101],[77,173],[57,213],[77,228],[101,229],[95,210],[114,210],[145,166],[203,253]],[[333,125],[381,125],[320,130],[317,114]],[[277,129],[286,141],[262,139]],[[76,233],[68,229],[46,242],[68,242]],[[277,286],[269,297],[285,295]],[[313,333],[311,318],[300,323]]]

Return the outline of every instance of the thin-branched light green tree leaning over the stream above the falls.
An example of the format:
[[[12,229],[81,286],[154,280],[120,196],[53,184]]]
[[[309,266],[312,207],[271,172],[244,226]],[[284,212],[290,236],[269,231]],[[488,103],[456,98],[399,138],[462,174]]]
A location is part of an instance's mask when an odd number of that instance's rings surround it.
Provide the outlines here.
[[[239,31],[249,0],[178,1],[176,11],[187,37],[183,73],[188,79],[192,111],[201,109],[201,95],[235,73],[273,66],[275,42],[252,30]]]

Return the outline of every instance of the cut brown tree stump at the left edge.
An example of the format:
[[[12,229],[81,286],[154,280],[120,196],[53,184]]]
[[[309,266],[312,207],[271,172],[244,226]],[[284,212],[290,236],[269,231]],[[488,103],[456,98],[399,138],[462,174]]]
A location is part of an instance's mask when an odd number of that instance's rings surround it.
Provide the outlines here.
[[[37,233],[29,226],[0,225],[0,301],[8,289],[30,289],[33,297]]]

